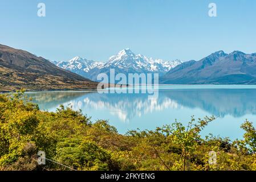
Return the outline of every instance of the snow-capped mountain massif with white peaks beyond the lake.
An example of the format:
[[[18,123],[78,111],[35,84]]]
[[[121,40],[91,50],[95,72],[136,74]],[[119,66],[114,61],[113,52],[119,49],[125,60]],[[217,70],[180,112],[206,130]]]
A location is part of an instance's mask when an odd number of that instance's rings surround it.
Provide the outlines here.
[[[115,69],[116,73],[159,73],[161,76],[181,63],[180,60],[166,61],[135,55],[131,49],[126,48],[109,57],[107,62],[96,62],[76,56],[70,61],[62,61],[56,65],[96,81],[97,75],[108,75],[110,69]]]

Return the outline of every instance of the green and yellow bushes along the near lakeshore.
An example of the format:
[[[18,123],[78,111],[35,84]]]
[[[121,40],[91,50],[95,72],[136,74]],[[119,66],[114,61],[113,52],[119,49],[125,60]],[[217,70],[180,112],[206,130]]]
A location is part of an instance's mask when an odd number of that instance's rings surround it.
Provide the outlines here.
[[[72,107],[40,111],[22,92],[0,94],[1,170],[256,170],[256,131],[243,123],[242,140],[200,136],[214,117],[188,126],[175,121],[153,131],[117,133],[107,121],[92,123]],[[44,151],[46,165],[38,165]],[[217,152],[216,164],[209,152]],[[70,168],[67,168],[68,166]]]

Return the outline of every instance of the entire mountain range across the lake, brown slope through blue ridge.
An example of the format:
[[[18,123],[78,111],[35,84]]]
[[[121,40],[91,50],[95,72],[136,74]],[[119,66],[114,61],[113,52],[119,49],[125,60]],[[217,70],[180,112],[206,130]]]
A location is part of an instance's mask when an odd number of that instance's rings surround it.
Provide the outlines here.
[[[108,61],[82,59],[49,61],[0,44],[0,92],[95,89],[99,73],[159,73],[160,84],[256,84],[256,53],[217,51],[199,61],[166,61],[123,49]],[[91,81],[93,80],[93,81]]]

